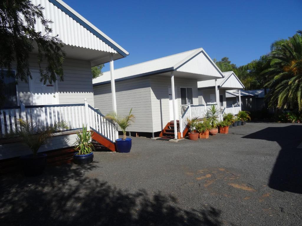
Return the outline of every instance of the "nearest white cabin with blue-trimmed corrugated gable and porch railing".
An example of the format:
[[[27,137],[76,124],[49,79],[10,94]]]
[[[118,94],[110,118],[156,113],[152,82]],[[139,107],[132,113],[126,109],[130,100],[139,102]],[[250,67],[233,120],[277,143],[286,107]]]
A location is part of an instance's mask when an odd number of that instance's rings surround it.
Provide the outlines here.
[[[0,135],[3,136],[18,127],[19,118],[45,126],[64,120],[68,122],[69,130],[76,130],[87,124],[88,128],[97,131],[95,135],[99,135],[100,142],[104,141],[105,146],[113,149],[117,131],[93,108],[91,67],[110,62],[113,71],[113,61],[124,58],[129,53],[63,1],[32,0],[32,3],[41,4],[45,8],[45,18],[53,21],[50,25],[53,29],[51,35],[58,34],[64,42],[67,54],[63,64],[64,81],[46,85],[40,83],[35,50],[30,57],[33,79],[29,79],[29,83],[18,81],[17,86],[14,79],[6,80],[8,101],[0,109]],[[44,33],[39,23],[35,29]],[[114,83],[112,89],[114,91]],[[114,94],[112,92],[111,99],[115,99]],[[111,107],[115,108],[115,105]],[[51,138],[39,151],[72,146],[74,138],[75,134],[65,132],[64,135]],[[0,160],[31,153],[20,143],[4,143],[0,144]]]

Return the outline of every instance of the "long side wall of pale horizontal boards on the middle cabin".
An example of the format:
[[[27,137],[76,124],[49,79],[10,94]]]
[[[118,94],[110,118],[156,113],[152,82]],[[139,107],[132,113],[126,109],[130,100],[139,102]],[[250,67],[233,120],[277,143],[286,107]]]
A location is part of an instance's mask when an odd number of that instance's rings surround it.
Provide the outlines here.
[[[111,84],[93,87],[95,108],[103,115],[112,111]],[[129,131],[153,132],[150,76],[115,82],[118,115],[128,115],[131,108],[135,122]],[[120,130],[120,129],[119,129]]]

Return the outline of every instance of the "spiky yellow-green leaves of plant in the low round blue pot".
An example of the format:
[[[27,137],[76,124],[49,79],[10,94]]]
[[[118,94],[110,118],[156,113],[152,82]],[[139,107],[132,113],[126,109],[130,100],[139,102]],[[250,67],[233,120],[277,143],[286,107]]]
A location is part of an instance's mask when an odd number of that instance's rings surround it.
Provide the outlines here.
[[[87,131],[87,127],[84,127],[81,132],[77,132],[76,142],[73,144],[75,146],[75,151],[79,152],[78,155],[87,155],[94,150],[94,146],[91,143],[91,136],[93,131]]]

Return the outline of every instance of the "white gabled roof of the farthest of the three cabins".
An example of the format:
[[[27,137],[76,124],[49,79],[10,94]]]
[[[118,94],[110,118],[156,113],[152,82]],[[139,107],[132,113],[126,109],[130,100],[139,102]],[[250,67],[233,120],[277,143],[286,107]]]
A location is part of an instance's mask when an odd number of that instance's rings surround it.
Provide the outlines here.
[[[244,85],[233,71],[222,72],[223,78],[217,79],[218,88],[244,89]],[[198,82],[198,88],[212,88],[215,86],[215,79]]]

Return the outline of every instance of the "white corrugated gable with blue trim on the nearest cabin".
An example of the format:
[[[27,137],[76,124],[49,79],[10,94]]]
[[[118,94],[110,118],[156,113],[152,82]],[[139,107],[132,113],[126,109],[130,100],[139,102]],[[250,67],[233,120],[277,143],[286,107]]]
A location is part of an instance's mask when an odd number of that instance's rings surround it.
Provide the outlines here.
[[[50,24],[52,36],[59,38],[67,45],[87,49],[95,49],[110,53],[120,53],[123,56],[129,53],[92,25],[61,0],[31,0],[34,5],[41,4],[45,8],[44,17],[53,21]],[[45,34],[41,23],[35,26],[36,31]]]

